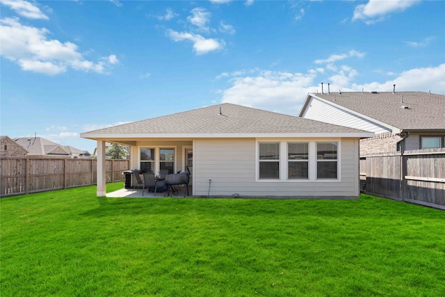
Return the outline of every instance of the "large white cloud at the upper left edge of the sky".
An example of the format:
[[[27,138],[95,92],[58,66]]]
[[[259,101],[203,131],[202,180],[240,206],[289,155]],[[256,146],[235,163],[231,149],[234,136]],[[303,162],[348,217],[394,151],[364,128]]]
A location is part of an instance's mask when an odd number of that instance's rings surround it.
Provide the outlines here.
[[[47,29],[24,26],[17,18],[0,19],[0,29],[1,56],[14,61],[25,71],[55,75],[72,67],[105,73],[110,65],[118,63],[115,55],[104,57],[98,63],[87,61],[74,43],[49,40]]]

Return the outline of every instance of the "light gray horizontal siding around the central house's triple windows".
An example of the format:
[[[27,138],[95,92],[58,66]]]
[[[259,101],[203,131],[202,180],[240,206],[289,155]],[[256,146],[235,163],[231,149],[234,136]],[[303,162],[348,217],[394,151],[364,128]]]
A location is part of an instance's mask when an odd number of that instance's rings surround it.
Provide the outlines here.
[[[341,139],[341,179],[334,182],[256,181],[255,145],[254,138],[195,140],[193,195],[358,198],[358,139]]]

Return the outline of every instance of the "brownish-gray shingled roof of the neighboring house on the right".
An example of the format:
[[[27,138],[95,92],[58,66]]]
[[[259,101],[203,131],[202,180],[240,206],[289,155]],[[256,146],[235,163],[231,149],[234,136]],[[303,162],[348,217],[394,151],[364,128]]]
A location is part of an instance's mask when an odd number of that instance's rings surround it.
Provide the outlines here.
[[[323,99],[401,130],[445,130],[444,95],[426,92],[309,93],[300,116],[310,97]]]

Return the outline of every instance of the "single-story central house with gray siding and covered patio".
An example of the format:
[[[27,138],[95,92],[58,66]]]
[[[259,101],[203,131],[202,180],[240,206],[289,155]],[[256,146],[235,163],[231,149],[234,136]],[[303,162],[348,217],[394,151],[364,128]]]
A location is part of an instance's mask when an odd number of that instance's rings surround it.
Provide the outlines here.
[[[359,139],[369,131],[220,104],[81,134],[97,141],[97,195],[106,194],[105,143],[131,147],[131,168],[191,169],[194,196],[359,197]]]

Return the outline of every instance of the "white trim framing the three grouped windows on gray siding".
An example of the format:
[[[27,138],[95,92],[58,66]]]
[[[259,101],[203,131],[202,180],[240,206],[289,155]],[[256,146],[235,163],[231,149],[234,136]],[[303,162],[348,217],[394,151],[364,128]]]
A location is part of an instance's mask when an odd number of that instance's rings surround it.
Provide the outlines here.
[[[317,179],[317,147],[316,143],[337,142],[337,179]],[[259,178],[259,143],[280,143],[280,179]],[[288,143],[309,143],[309,179],[288,178]],[[334,160],[332,160],[334,161]],[[317,139],[261,139],[255,141],[255,182],[291,182],[291,183],[324,183],[341,182],[341,138],[317,138]]]

